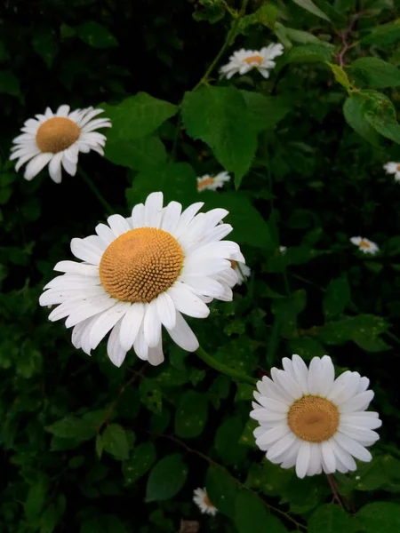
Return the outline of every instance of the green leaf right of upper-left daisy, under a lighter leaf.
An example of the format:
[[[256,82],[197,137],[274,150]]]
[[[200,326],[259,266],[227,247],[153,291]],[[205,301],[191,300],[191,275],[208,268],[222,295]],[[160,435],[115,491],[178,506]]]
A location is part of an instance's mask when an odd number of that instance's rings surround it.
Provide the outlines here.
[[[156,167],[167,159],[164,144],[156,135],[132,140],[108,139],[105,156],[111,163],[133,171]]]

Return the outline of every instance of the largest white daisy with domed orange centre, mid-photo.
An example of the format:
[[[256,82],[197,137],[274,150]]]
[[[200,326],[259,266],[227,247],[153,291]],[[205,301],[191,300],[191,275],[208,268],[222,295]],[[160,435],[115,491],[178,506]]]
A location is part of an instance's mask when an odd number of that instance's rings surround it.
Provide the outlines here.
[[[132,346],[140,359],[163,362],[162,326],[178,346],[196,351],[182,314],[205,318],[210,310],[204,302],[232,299],[237,275],[228,259],[244,261],[238,244],[221,241],[232,231],[220,224],[228,211],[196,214],[203,205],[163,207],[163,194],[152,193],[132,217],[112,215],[108,225],[95,228],[97,235],[72,239],[72,253],[84,262],[54,267],[65,274],[48,283],[39,300],[57,305],[49,319],[67,317],[73,345],[86,354],[111,331],[107,349],[116,366]]]

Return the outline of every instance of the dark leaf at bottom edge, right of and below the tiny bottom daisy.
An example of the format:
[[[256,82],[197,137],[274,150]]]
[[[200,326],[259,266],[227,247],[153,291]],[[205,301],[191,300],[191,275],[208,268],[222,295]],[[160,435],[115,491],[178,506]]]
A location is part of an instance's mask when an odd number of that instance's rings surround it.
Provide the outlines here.
[[[285,533],[287,529],[272,516],[260,497],[241,490],[235,502],[235,525],[238,533]],[[325,532],[324,532],[325,533]]]

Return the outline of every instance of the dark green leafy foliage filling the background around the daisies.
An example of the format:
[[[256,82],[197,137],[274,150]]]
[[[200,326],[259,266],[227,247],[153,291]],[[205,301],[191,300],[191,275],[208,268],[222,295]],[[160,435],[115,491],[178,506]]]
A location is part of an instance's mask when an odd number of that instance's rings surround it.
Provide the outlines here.
[[[2,10],[0,531],[397,531],[400,189],[382,171],[400,160],[396,1],[38,0],[22,12],[8,0]],[[285,52],[268,80],[216,80],[236,47],[271,41]],[[101,104],[111,118],[105,160],[80,164],[116,211],[154,190],[229,211],[252,276],[193,324],[215,361],[258,378],[284,356],[328,353],[372,378],[384,426],[372,463],[337,476],[349,513],[324,476],[299,480],[263,460],[252,386],[166,339],[160,367],[130,354],[116,369],[104,346],[89,359],[47,322],[37,298],[54,263],[105,217],[79,177],[28,183],[7,161],[17,125],[61,103]],[[197,192],[196,176],[222,169],[232,183]],[[352,235],[380,253],[359,254]],[[214,519],[191,501],[198,486]]]

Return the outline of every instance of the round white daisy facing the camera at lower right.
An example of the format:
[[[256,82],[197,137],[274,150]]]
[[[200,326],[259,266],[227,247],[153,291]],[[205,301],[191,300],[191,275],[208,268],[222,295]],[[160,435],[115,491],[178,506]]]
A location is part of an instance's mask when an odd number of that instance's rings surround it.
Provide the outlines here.
[[[370,381],[347,370],[335,379],[331,357],[306,363],[284,357],[284,370],[271,369],[254,392],[250,416],[257,446],[283,468],[296,465],[300,478],[316,473],[356,470],[356,459],[371,461],[365,446],[380,438],[378,413],[366,411],[373,398]]]

